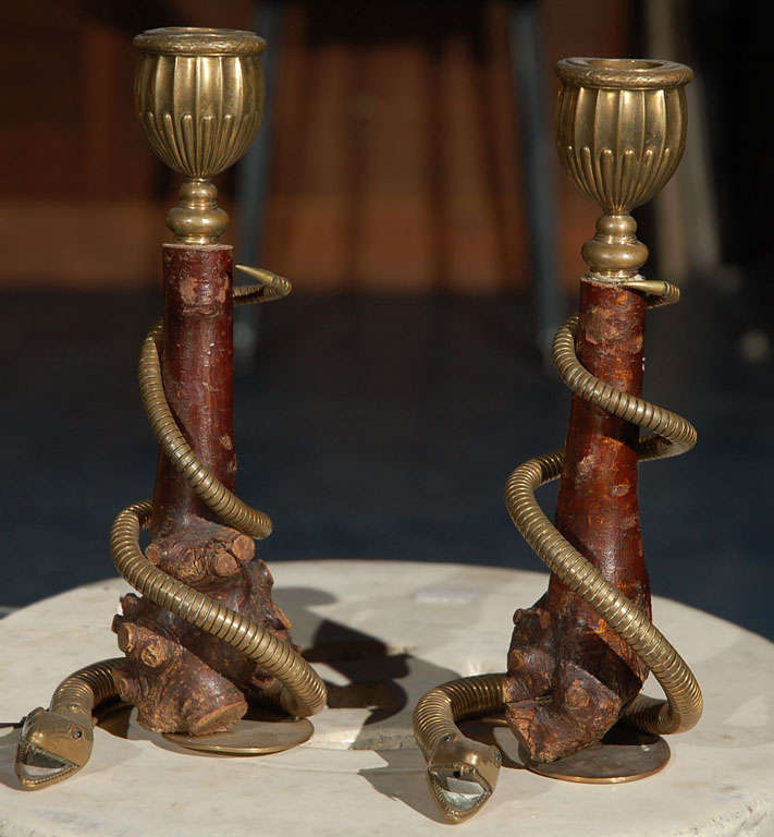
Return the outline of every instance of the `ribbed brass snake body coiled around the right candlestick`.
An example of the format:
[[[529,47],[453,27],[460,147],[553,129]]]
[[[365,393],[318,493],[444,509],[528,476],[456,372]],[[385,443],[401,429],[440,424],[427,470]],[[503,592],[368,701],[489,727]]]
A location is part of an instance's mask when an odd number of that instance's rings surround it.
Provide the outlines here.
[[[622,283],[622,287],[643,292],[650,307],[677,302],[679,299],[679,290],[667,282],[638,278]],[[575,353],[577,328],[576,315],[560,328],[554,338],[553,363],[567,387],[601,410],[650,432],[651,435],[639,442],[640,460],[663,459],[692,448],[697,439],[696,430],[683,416],[611,387],[580,364]],[[519,465],[505,485],[508,514],[549,569],[591,605],[629,644],[664,690],[666,702],[640,695],[626,708],[625,717],[639,729],[656,735],[686,731],[698,723],[703,705],[699,683],[690,668],[646,614],[606,581],[562,536],[538,505],[536,489],[561,476],[563,465],[563,450],[530,459]],[[472,712],[481,714],[501,711],[503,678],[504,675],[489,676],[484,693],[491,700],[486,705],[480,686],[482,678],[479,677],[454,680],[433,689],[419,701],[415,709],[414,730],[428,761],[430,787],[451,822],[459,822],[475,813],[489,798],[491,789],[487,792],[482,786],[482,798],[474,810],[457,804],[459,794],[450,793],[449,788],[438,778],[439,766],[443,766],[439,742],[454,739],[468,748],[480,748],[477,742],[462,736],[456,721]],[[444,695],[450,694],[454,695],[454,701],[444,699]],[[476,708],[469,709],[471,706]]]

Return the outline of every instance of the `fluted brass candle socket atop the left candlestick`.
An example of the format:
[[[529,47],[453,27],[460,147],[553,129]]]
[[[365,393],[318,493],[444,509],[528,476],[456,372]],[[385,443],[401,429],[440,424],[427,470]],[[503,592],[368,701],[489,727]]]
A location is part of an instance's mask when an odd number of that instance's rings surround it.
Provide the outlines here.
[[[263,114],[260,53],[250,32],[171,27],[137,35],[135,110],[151,148],[185,175],[167,214],[175,241],[214,244],[229,225],[210,178],[249,147]]]

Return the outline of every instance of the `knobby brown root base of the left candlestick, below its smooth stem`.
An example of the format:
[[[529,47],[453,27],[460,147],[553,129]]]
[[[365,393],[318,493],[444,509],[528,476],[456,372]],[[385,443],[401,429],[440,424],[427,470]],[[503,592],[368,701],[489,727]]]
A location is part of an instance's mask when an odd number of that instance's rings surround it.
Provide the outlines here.
[[[160,569],[290,642],[291,623],[271,598],[273,578],[250,561],[251,538],[201,521],[146,549]],[[222,640],[130,593],[113,619],[126,654],[115,674],[122,701],[137,707],[139,724],[159,732],[209,735],[232,728],[277,691],[277,681]]]

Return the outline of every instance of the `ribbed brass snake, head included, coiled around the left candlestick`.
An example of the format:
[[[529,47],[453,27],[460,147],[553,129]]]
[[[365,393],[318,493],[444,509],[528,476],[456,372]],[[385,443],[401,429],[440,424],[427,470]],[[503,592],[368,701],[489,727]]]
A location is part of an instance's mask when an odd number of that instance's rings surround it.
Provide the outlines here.
[[[234,303],[245,305],[286,296],[291,283],[268,270],[236,266],[258,284],[234,289]],[[271,534],[271,518],[230,492],[200,462],[183,436],[163,390],[157,324],[143,342],[138,373],[146,414],[164,454],[201,500],[223,521],[253,537]],[[288,714],[318,713],[327,700],[325,686],[309,664],[286,642],[261,624],[168,575],[152,565],[139,546],[139,532],[150,522],[151,504],[124,509],[110,532],[110,551],[118,571],[159,607],[232,645],[280,682],[275,700]],[[24,720],[15,769],[22,786],[37,790],[72,776],[91,754],[94,708],[118,695],[114,666],[123,658],[95,663],[67,677],[54,691],[48,709],[34,709]]]

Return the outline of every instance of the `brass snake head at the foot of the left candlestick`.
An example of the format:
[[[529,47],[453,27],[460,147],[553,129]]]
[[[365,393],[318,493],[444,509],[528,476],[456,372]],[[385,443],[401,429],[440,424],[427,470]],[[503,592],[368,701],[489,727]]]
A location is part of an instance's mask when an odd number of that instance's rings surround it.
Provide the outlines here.
[[[16,776],[26,790],[62,781],[88,762],[93,743],[90,719],[81,723],[51,709],[33,709],[19,738]]]

